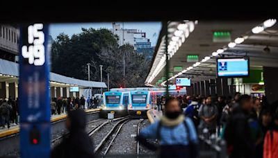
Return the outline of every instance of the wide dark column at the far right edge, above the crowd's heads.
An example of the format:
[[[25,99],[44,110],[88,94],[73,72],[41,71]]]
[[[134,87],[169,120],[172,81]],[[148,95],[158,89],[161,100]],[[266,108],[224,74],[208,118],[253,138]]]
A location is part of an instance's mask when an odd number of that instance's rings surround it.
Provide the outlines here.
[[[263,67],[263,81],[265,84],[265,96],[268,103],[273,103],[278,99],[278,72],[277,67]]]

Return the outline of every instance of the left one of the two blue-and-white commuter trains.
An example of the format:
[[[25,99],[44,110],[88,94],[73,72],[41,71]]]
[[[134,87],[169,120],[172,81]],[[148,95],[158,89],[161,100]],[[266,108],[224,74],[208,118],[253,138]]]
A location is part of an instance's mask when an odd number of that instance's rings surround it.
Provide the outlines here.
[[[99,112],[100,118],[108,118],[108,113],[114,117],[126,116],[127,107],[131,104],[131,94],[129,91],[106,91],[104,92],[103,105]]]

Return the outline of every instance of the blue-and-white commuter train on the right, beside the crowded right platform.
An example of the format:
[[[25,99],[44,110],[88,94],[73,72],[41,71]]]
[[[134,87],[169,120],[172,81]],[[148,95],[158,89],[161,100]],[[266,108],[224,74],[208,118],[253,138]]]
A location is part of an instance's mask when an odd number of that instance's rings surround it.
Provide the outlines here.
[[[147,117],[147,110],[152,109],[151,91],[136,90],[130,91],[131,105],[128,113],[131,117]]]

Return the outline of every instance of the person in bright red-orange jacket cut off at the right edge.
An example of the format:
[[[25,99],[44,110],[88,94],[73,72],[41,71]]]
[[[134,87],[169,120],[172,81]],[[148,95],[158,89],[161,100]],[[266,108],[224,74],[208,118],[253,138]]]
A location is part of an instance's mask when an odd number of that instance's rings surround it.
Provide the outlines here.
[[[278,157],[278,114],[275,114],[275,125],[265,134],[263,144],[263,158]]]

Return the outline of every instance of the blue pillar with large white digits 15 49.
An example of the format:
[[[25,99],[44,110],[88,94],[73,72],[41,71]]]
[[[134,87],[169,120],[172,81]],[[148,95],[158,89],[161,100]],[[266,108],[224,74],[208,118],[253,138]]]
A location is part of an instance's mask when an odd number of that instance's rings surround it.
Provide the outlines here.
[[[19,41],[20,156],[50,157],[51,122],[48,30],[24,24]]]

